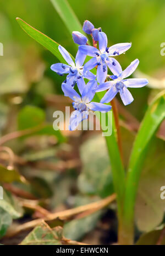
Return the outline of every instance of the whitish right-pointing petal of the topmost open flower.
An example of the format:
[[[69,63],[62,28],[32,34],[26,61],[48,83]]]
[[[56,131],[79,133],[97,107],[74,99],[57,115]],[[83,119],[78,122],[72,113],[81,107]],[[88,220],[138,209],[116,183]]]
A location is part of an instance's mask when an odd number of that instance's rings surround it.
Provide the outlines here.
[[[129,42],[123,42],[121,44],[112,45],[108,49],[109,56],[117,56],[117,55],[123,54],[123,52],[130,49],[130,47],[131,47],[131,44]]]

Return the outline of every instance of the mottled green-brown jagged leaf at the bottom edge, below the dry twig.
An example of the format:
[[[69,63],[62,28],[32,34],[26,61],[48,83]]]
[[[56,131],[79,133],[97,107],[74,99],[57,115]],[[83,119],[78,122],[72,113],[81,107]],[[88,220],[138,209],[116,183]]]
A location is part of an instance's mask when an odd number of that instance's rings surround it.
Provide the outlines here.
[[[62,245],[63,239],[62,227],[50,228],[46,222],[34,228],[25,239],[20,243],[21,245]]]

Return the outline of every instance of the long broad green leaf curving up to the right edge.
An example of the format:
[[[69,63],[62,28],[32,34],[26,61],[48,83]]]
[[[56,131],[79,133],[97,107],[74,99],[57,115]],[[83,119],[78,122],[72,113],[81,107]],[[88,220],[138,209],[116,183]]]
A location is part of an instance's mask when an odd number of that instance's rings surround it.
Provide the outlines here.
[[[158,126],[165,118],[165,94],[161,92],[153,100],[141,123],[138,135],[134,142],[128,168],[127,188],[124,202],[125,225],[133,223],[135,199],[139,185],[142,166],[146,156],[147,146],[155,134]],[[156,193],[156,192],[155,192]],[[133,225],[133,224],[131,224]]]

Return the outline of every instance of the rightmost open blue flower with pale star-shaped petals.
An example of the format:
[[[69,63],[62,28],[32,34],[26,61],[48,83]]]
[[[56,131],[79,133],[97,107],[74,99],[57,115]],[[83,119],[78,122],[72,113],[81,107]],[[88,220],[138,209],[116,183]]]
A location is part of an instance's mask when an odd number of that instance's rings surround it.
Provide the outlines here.
[[[119,63],[116,70],[111,70],[113,75],[109,77],[111,77],[113,81],[102,83],[97,86],[95,90],[95,92],[101,92],[108,89],[104,97],[101,99],[101,103],[111,102],[111,100],[116,96],[118,92],[120,93],[120,97],[122,98],[124,105],[128,105],[133,102],[134,98],[127,88],[140,88],[146,86],[146,84],[149,83],[145,78],[125,79],[136,70],[138,65],[139,60],[136,58],[136,60],[131,62],[124,71],[122,71],[122,67]]]

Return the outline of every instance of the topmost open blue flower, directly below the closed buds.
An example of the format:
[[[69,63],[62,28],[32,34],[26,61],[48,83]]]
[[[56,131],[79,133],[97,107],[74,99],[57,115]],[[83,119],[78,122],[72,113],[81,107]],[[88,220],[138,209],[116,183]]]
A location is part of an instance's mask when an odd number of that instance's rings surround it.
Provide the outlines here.
[[[103,32],[98,33],[98,43],[100,50],[89,45],[80,45],[79,50],[82,54],[94,57],[85,63],[84,70],[92,70],[92,68],[97,65],[97,81],[98,83],[103,83],[107,77],[107,66],[111,70],[118,70],[118,61],[116,61],[113,56],[123,54],[123,52],[127,51],[131,47],[131,44],[116,44],[108,48],[107,36]]]

